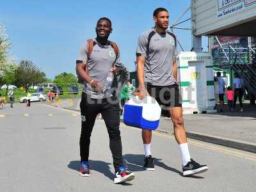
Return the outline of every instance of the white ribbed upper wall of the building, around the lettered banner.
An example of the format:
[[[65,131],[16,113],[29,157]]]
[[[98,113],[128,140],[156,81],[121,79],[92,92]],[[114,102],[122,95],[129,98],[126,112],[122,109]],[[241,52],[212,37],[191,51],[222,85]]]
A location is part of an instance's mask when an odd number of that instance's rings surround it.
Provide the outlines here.
[[[193,2],[193,0],[191,0]],[[194,35],[207,35],[214,31],[236,26],[245,21],[256,19],[256,1],[255,0],[233,0],[234,4],[223,5],[227,0],[195,0],[191,6],[192,18],[194,21]],[[255,2],[254,2],[255,1]],[[220,2],[220,6],[218,6]],[[254,2],[254,3],[253,3]],[[244,4],[247,6],[244,6]],[[250,4],[249,4],[250,3]],[[241,6],[241,10],[229,13],[218,18],[218,14],[223,10],[230,10]],[[220,8],[220,10],[218,10]]]

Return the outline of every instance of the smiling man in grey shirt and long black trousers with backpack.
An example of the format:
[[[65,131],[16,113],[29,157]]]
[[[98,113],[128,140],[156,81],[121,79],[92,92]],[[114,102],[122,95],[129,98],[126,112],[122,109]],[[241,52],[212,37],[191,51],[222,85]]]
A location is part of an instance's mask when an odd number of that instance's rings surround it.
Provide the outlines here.
[[[134,173],[128,172],[123,164],[122,143],[119,131],[119,104],[112,89],[113,79],[115,79],[114,74],[120,72],[116,68],[116,62],[119,61],[120,55],[119,52],[118,55],[115,54],[115,45],[108,40],[111,32],[111,21],[106,17],[100,18],[96,26],[97,37],[93,38],[93,42],[86,41],[82,45],[76,61],[77,75],[84,81],[80,103],[82,122],[80,175],[83,177],[90,176],[88,161],[90,136],[95,119],[101,113],[108,129],[109,147],[115,167],[114,183],[117,184],[134,179]],[[89,45],[89,42],[92,43],[92,46]],[[88,52],[89,47],[92,47],[91,53]],[[84,65],[87,65],[86,71],[84,70]]]

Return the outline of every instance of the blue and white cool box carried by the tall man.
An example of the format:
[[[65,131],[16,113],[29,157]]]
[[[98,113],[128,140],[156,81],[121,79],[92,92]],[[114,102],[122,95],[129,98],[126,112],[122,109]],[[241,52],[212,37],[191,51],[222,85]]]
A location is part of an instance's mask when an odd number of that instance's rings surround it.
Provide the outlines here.
[[[132,97],[124,106],[124,124],[141,129],[155,130],[159,125],[161,108],[156,99],[147,96]]]

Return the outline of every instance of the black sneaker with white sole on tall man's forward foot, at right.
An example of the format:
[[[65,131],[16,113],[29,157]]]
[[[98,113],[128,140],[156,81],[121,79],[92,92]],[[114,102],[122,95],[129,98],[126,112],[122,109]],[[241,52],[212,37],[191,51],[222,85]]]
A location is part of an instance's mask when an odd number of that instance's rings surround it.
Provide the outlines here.
[[[198,173],[204,173],[209,170],[208,166],[196,163],[193,159],[185,166],[182,166],[183,176],[195,175]]]

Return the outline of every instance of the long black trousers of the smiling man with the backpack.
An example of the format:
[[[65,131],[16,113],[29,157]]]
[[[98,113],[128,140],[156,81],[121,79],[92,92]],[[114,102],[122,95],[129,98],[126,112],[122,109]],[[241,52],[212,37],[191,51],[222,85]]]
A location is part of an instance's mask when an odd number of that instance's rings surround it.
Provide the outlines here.
[[[112,102],[109,99],[91,99],[82,94],[80,103],[81,108],[81,136],[80,136],[80,156],[81,161],[88,161],[89,149],[90,149],[90,137],[95,124],[95,119],[99,113],[106,124],[109,135],[109,147],[113,156],[113,164],[115,170],[118,170],[118,166],[123,165],[122,157],[122,142],[119,131],[120,125],[120,109],[118,100],[116,97],[111,97]],[[98,141],[100,142],[100,141]],[[99,152],[101,148],[99,145]]]

